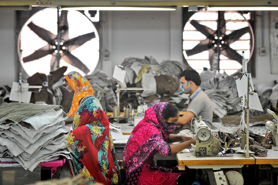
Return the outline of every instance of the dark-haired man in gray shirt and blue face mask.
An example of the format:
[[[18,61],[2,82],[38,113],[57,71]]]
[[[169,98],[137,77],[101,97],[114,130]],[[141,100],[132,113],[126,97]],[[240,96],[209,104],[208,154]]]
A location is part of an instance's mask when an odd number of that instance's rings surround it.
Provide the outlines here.
[[[189,129],[192,131],[194,129],[194,121],[191,120],[196,118],[199,120],[199,116],[202,116],[202,120],[207,124],[207,126],[213,129],[212,126],[212,103],[205,92],[200,88],[201,78],[199,73],[195,70],[185,70],[180,75],[181,88],[184,93],[189,94],[189,104],[185,114],[180,117],[177,121],[176,131]]]

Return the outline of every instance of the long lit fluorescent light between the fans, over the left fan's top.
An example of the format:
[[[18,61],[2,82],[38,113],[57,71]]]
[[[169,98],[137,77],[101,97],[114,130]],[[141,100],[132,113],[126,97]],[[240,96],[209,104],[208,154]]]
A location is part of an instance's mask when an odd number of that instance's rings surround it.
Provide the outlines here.
[[[175,11],[177,6],[83,6],[83,7],[69,7],[62,6],[61,10],[113,10],[113,11]]]

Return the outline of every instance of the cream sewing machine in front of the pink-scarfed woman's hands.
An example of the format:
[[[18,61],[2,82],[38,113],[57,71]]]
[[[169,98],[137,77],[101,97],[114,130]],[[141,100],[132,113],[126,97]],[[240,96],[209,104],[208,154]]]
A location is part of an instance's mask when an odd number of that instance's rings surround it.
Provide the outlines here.
[[[221,143],[211,133],[205,122],[202,121],[201,116],[199,120],[194,121],[194,132],[196,146],[193,155],[196,157],[217,156]]]

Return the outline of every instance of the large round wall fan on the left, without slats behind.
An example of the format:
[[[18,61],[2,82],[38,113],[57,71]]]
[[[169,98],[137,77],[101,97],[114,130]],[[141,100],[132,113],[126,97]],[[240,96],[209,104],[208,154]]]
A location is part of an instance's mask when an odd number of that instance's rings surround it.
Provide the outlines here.
[[[96,28],[78,11],[38,11],[23,26],[19,38],[21,64],[29,75],[48,74],[61,66],[86,75],[99,59]]]

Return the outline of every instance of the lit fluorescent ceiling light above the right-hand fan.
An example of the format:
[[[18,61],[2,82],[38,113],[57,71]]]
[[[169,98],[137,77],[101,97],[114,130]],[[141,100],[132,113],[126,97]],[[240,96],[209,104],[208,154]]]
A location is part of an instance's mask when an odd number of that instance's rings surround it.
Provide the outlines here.
[[[207,11],[267,11],[267,10],[278,10],[278,7],[274,6],[206,6]]]

